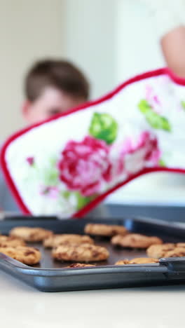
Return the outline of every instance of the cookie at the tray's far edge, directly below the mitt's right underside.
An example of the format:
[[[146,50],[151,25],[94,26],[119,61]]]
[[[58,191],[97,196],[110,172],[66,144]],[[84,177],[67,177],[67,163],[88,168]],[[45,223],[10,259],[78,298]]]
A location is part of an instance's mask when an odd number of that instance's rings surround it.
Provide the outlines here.
[[[124,226],[116,226],[109,224],[86,224],[85,233],[89,235],[102,235],[102,236],[113,236],[113,235],[125,235],[128,230]]]

